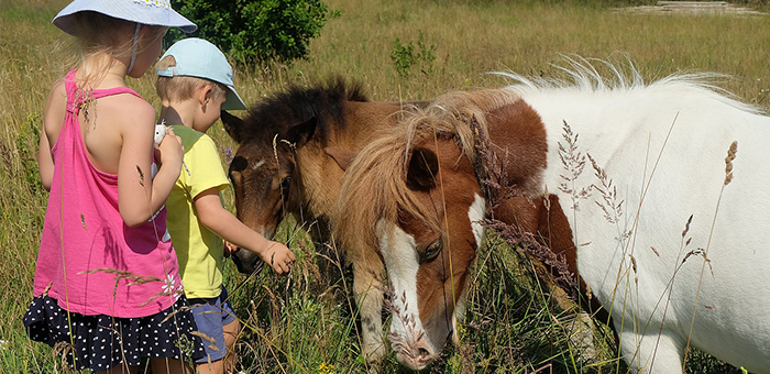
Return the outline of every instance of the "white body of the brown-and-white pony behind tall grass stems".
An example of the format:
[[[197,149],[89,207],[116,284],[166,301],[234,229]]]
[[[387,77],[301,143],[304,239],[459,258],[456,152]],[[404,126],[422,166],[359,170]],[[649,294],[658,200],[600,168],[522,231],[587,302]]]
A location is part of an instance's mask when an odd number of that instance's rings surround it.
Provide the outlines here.
[[[580,276],[612,310],[626,361],[679,373],[690,339],[721,360],[770,373],[770,119],[676,79],[520,92],[547,127],[543,180],[579,245]],[[564,121],[616,187],[617,222],[600,208],[607,202],[591,187],[601,184],[590,161],[573,188],[592,188],[587,198],[559,188],[568,174],[557,146],[566,145]],[[733,141],[735,178],[722,193]]]

